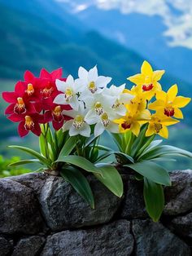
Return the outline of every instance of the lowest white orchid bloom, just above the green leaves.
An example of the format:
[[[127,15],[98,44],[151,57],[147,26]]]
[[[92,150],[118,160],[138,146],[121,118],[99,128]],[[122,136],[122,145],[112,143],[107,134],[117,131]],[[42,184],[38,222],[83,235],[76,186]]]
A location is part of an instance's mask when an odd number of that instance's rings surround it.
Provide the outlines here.
[[[82,135],[84,137],[90,136],[90,126],[85,121],[85,115],[87,110],[83,103],[79,104],[78,110],[63,110],[63,114],[67,114],[68,117],[72,117],[72,120],[66,121],[63,125],[63,131],[68,130],[70,136]]]

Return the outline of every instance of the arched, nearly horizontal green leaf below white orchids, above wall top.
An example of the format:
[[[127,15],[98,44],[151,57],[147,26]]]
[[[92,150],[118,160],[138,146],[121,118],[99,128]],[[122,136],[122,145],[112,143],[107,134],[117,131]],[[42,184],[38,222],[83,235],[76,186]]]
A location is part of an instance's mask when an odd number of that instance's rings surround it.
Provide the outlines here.
[[[67,157],[62,157],[62,159],[58,159],[55,162],[59,162],[59,161],[66,162],[66,163],[74,165],[74,166],[78,166],[78,167],[82,168],[83,170],[89,171],[91,173],[96,173],[96,174],[102,175],[102,172],[96,166],[94,166],[94,164],[92,164],[90,161],[88,161],[84,157],[70,155]]]

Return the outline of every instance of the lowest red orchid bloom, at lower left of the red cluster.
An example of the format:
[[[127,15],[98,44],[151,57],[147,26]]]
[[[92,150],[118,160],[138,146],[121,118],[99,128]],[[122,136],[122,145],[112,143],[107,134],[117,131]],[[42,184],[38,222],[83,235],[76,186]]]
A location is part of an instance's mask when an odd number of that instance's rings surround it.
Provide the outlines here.
[[[20,124],[18,126],[18,133],[20,137],[28,135],[29,131],[32,131],[33,134],[40,136],[40,124],[46,123],[44,116],[39,113],[28,113],[27,115],[12,114],[10,117],[7,118],[14,122],[20,121]]]

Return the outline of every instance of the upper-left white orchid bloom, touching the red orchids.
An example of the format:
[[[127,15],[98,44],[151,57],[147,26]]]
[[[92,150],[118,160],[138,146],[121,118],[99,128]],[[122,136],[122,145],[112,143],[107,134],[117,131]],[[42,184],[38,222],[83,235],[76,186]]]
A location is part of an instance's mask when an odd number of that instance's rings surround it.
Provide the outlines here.
[[[79,100],[77,94],[79,93],[79,86],[76,85],[73,77],[68,76],[66,82],[56,80],[56,86],[62,94],[55,97],[55,104],[69,104],[73,109],[77,110],[79,108]]]

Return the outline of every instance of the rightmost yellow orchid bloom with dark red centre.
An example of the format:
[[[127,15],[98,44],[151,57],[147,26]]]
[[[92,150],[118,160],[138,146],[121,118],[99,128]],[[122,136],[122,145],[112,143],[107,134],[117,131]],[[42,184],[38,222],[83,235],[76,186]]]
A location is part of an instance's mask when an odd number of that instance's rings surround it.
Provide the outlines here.
[[[162,113],[167,117],[183,118],[180,108],[184,108],[189,104],[191,99],[177,96],[177,92],[177,85],[171,86],[167,93],[163,90],[156,92],[157,100],[149,104],[149,109]]]

